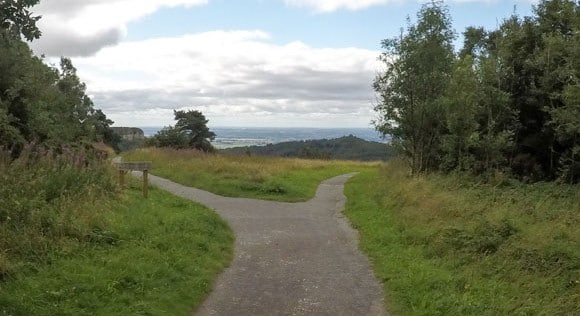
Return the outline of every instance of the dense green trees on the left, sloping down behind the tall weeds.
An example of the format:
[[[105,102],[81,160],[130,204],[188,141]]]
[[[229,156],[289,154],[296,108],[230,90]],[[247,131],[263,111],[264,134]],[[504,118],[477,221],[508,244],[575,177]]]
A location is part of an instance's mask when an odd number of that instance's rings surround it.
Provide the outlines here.
[[[19,39],[1,41],[0,56],[0,147],[18,156],[26,143],[115,144],[113,122],[94,108],[70,59],[49,67]]]

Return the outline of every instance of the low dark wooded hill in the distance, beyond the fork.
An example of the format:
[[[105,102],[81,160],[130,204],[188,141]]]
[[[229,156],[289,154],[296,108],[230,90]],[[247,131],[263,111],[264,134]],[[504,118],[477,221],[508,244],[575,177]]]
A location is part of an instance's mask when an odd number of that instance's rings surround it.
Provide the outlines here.
[[[394,153],[390,145],[369,142],[353,135],[335,139],[318,139],[221,149],[232,155],[257,155],[270,157],[298,157],[312,159],[340,159],[375,161],[387,160]]]

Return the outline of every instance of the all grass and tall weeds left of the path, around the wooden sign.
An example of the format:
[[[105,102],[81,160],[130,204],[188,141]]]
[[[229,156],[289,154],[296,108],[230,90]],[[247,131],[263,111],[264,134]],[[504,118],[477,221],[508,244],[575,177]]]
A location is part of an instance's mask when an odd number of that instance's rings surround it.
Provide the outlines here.
[[[110,163],[51,157],[0,164],[0,315],[187,315],[199,306],[232,257],[225,222],[156,188],[145,200],[138,181],[118,192]]]

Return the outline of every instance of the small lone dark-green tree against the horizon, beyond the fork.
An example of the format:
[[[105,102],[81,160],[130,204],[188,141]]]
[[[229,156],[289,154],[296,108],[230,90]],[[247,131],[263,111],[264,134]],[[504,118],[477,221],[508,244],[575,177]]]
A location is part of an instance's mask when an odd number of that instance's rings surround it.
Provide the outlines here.
[[[211,141],[215,133],[207,127],[209,122],[199,111],[173,111],[177,123],[175,127],[165,127],[148,141],[155,147],[175,149],[193,148],[204,152],[213,152]]]

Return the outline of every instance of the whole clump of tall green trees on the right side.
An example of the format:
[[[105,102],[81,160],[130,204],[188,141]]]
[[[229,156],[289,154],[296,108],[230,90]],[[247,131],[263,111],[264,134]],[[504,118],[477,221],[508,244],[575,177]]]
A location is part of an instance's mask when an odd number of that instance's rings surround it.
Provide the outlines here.
[[[580,3],[544,0],[496,30],[468,27],[457,56],[444,53],[450,28],[434,2],[401,38],[383,41],[377,129],[412,171],[580,180]]]

